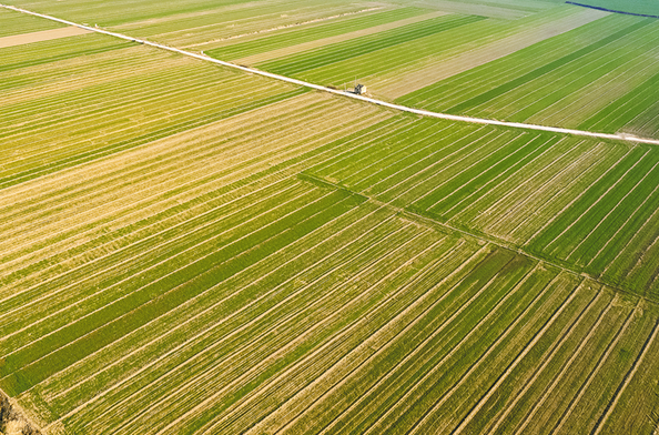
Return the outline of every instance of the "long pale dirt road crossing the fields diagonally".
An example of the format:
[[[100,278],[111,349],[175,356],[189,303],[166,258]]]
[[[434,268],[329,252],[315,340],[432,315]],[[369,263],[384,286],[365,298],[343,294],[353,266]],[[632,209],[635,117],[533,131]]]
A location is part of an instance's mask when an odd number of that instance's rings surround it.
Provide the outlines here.
[[[339,90],[326,88],[326,87],[323,87],[323,85],[320,85],[320,84],[308,83],[308,82],[305,82],[305,81],[302,81],[302,80],[297,80],[297,79],[292,79],[292,78],[285,77],[285,75],[273,74],[271,72],[261,71],[261,70],[256,70],[256,69],[253,69],[253,68],[237,65],[237,64],[234,64],[234,63],[231,63],[231,62],[225,62],[225,61],[222,61],[222,60],[213,59],[213,58],[211,58],[209,55],[205,55],[205,54],[197,54],[197,53],[193,53],[193,52],[190,52],[190,51],[176,49],[176,48],[173,48],[173,47],[160,44],[160,43],[156,43],[156,42],[151,42],[151,41],[145,41],[145,40],[136,39],[136,38],[129,37],[129,36],[122,34],[122,33],[111,32],[111,31],[108,31],[108,30],[102,30],[102,29],[98,29],[98,28],[93,28],[93,27],[89,27],[89,26],[84,26],[84,24],[79,24],[79,23],[75,23],[75,22],[72,22],[72,21],[62,20],[62,19],[59,19],[59,18],[54,18],[54,17],[47,16],[47,14],[43,14],[43,13],[32,12],[32,11],[29,11],[29,10],[26,10],[26,9],[16,8],[16,7],[8,6],[8,4],[0,4],[0,7],[1,8],[4,8],[4,9],[17,11],[17,12],[21,12],[21,13],[28,13],[30,16],[44,18],[47,20],[61,22],[63,24],[75,26],[75,27],[78,27],[80,29],[93,31],[93,32],[97,32],[97,33],[108,34],[110,37],[120,38],[120,39],[123,39],[123,40],[126,40],[126,41],[138,42],[138,43],[144,44],[144,45],[155,47],[155,48],[161,49],[161,50],[172,51],[172,52],[175,52],[175,53],[179,53],[179,54],[183,54],[183,55],[186,55],[186,57],[190,57],[190,58],[203,60],[203,61],[206,61],[206,62],[212,62],[212,63],[215,63],[215,64],[219,64],[219,65],[223,65],[223,67],[233,68],[233,69],[241,70],[241,71],[244,71],[244,72],[249,72],[249,73],[253,73],[253,74],[258,74],[258,75],[267,77],[267,78],[275,79],[275,80],[281,80],[281,81],[284,81],[284,82],[287,82],[287,83],[292,83],[292,84],[297,84],[297,85],[304,87],[304,88],[310,88],[310,89],[315,89],[315,90],[323,91],[323,92],[328,92],[328,93],[334,93],[334,94],[337,94],[337,95],[343,95],[343,97],[352,98],[354,100],[365,101],[365,102],[368,102],[368,103],[382,105],[382,107],[389,108],[389,109],[399,110],[399,111],[403,111],[403,112],[414,113],[414,114],[418,114],[418,115],[422,115],[422,117],[437,118],[437,119],[443,119],[443,120],[448,120],[448,121],[470,122],[470,123],[476,123],[476,124],[488,124],[488,125],[499,125],[499,127],[508,127],[508,128],[514,128],[514,129],[547,131],[547,132],[551,132],[551,133],[572,134],[572,135],[588,136],[588,138],[595,138],[595,139],[608,139],[608,140],[628,141],[628,142],[647,143],[647,144],[651,144],[651,145],[659,145],[659,140],[657,140],[657,139],[638,138],[638,136],[635,136],[632,134],[625,134],[625,133],[618,133],[618,134],[596,133],[596,132],[584,131],[584,130],[572,130],[572,129],[562,129],[562,128],[558,128],[558,127],[546,127],[546,125],[525,124],[525,123],[521,123],[521,122],[505,122],[505,121],[487,120],[487,119],[480,119],[480,118],[453,115],[453,114],[447,114],[447,113],[437,113],[437,112],[430,112],[430,111],[420,110],[420,109],[413,109],[413,108],[408,108],[406,105],[388,103],[386,101],[376,100],[376,99],[368,98],[368,97],[363,97],[363,95],[357,95],[357,94],[354,94],[354,93],[351,93],[351,92],[339,91]]]

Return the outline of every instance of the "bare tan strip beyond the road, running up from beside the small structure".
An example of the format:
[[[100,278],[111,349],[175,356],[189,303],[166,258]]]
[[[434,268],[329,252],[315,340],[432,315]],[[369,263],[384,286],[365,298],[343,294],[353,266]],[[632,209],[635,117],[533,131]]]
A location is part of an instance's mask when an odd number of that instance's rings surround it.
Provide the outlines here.
[[[378,85],[378,81],[376,80],[375,84],[371,88],[377,94],[395,100],[438,81],[509,55],[546,39],[599,20],[606,16],[606,12],[587,10],[537,26],[533,29],[523,29],[516,34],[486,43],[453,58],[442,59],[437,62],[426,62],[423,68],[416,70],[406,70],[402,74],[396,74],[398,75],[397,79],[383,79],[382,81],[386,80],[386,84]]]

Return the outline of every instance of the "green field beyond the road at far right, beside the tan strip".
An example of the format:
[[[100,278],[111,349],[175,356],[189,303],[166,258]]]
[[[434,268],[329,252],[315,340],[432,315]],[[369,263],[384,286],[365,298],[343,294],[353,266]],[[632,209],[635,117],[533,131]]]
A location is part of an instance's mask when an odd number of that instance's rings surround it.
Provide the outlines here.
[[[652,136],[659,26],[602,18],[398,99],[479,118]],[[604,98],[602,98],[604,97]]]

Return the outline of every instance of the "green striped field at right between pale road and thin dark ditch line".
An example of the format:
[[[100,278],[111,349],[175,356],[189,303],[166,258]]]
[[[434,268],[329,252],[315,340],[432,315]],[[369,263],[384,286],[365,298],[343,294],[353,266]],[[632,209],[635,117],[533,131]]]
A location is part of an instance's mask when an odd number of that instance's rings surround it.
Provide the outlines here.
[[[657,296],[659,152],[398,117],[308,172]]]

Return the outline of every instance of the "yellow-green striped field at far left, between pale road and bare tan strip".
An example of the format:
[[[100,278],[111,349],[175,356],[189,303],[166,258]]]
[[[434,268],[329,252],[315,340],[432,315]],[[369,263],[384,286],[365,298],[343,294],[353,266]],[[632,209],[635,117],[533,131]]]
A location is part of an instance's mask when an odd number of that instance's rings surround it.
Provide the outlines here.
[[[88,34],[3,49],[0,186],[303,92],[134,45]]]

